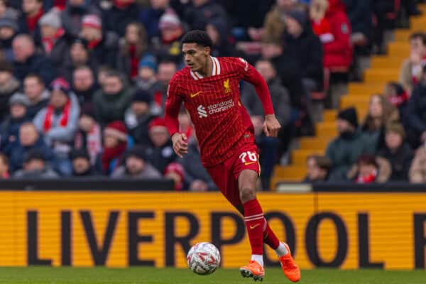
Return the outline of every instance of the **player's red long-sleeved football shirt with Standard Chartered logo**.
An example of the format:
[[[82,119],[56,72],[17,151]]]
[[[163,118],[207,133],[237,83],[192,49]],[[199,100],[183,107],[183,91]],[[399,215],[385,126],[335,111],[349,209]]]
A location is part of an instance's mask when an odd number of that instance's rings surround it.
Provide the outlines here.
[[[242,58],[211,58],[212,76],[202,77],[185,67],[176,72],[168,86],[165,121],[170,136],[179,131],[182,102],[190,113],[200,143],[204,166],[217,165],[234,155],[241,137],[253,129],[240,102],[239,82],[253,84],[265,114],[273,114],[271,95],[263,77]]]

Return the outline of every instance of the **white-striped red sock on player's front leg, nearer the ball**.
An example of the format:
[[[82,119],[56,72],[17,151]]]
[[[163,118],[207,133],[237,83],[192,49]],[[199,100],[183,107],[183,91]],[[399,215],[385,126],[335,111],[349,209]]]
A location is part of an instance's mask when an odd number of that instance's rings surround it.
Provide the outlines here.
[[[244,220],[251,245],[251,254],[263,254],[263,226],[265,218],[258,200],[244,203]]]

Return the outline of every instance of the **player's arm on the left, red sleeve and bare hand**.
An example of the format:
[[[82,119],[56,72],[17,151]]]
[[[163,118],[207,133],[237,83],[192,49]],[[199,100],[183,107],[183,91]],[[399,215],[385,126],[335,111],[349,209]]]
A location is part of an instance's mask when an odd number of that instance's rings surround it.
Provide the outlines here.
[[[185,134],[179,133],[178,115],[182,105],[182,96],[179,94],[178,89],[178,84],[173,78],[168,85],[164,119],[172,138],[173,151],[182,158],[182,155],[188,152],[188,143]]]

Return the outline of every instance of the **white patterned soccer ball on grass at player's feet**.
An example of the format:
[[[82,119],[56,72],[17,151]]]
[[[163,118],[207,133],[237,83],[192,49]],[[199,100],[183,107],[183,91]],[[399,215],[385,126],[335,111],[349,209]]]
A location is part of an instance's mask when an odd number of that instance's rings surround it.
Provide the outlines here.
[[[214,273],[220,264],[219,249],[207,242],[198,243],[188,252],[187,263],[190,270],[198,275]]]

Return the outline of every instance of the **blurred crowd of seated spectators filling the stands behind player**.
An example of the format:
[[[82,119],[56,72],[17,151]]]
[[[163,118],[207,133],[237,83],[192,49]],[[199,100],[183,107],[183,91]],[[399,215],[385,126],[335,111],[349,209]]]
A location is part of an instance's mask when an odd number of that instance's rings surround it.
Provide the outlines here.
[[[278,138],[263,136],[256,92],[241,84],[268,189],[292,139],[314,133],[312,102],[327,104],[333,84],[356,80],[356,58],[383,53],[384,32],[420,13],[415,0],[0,0],[0,177],[163,177],[175,180],[175,190],[216,190],[185,109],[180,130],[190,148],[183,159],[162,119],[168,82],[183,67],[180,38],[201,29],[213,56],[246,58],[271,89],[283,126]],[[425,35],[410,43],[401,84],[372,99],[361,128],[354,110],[339,114],[344,142],[333,143],[342,146],[331,146],[328,159],[312,157],[310,167],[344,178],[354,163],[355,171],[367,162],[378,168],[369,156],[357,162],[345,140],[351,136],[359,153],[391,161],[391,177],[408,178],[410,148],[426,140]],[[400,126],[387,128],[393,111]],[[367,136],[376,148],[363,144]],[[416,158],[422,163],[426,151]]]

